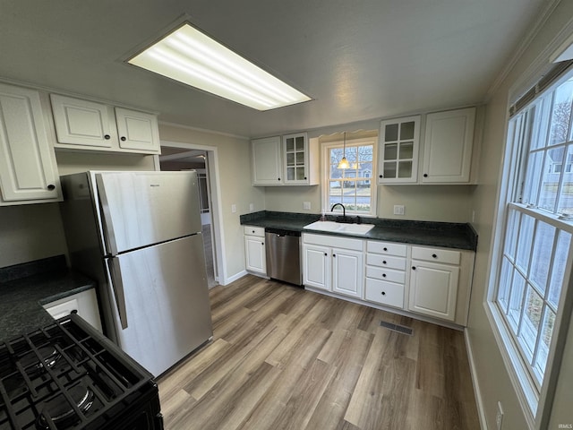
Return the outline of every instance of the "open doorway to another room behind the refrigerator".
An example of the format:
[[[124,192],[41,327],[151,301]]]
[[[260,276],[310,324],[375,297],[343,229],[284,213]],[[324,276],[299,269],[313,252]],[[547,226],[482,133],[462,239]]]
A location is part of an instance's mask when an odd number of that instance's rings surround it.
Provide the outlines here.
[[[218,205],[213,205],[216,199],[213,199],[212,192],[216,190],[216,178],[211,173],[215,152],[197,145],[161,142],[161,154],[159,156],[161,170],[195,170],[197,172],[207,282],[209,288],[215,287],[219,281],[218,262],[221,262],[220,225],[216,213]]]

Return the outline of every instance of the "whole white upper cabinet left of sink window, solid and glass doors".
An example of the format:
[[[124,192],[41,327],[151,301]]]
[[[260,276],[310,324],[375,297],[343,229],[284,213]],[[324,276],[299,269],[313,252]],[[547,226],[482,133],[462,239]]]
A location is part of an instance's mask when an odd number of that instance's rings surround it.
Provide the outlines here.
[[[318,185],[319,142],[306,133],[251,141],[252,185]]]

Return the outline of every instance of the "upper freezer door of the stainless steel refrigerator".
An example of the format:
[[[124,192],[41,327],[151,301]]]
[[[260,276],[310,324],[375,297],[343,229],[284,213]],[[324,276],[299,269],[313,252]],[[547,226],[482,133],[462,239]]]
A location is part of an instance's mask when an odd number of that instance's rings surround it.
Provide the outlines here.
[[[195,172],[98,173],[96,182],[108,255],[201,231]]]

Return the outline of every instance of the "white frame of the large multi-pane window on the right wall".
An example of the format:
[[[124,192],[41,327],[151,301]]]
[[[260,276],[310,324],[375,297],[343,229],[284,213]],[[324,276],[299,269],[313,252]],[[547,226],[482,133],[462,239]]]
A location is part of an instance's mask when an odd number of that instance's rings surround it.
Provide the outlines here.
[[[569,244],[569,257],[565,265],[564,278],[560,291],[559,305],[555,316],[555,323],[552,331],[552,340],[550,342],[547,364],[541,384],[536,383],[535,378],[530,374],[521,352],[517,335],[512,333],[505,315],[500,311],[497,303],[498,291],[500,288],[500,277],[502,276],[502,261],[504,256],[507,223],[509,218],[509,209],[518,209],[527,215],[533,216],[534,219],[542,220],[553,227],[560,228],[569,233],[573,232],[573,223],[567,219],[560,219],[556,213],[552,213],[541,208],[534,208],[522,202],[523,192],[525,189],[524,181],[526,179],[526,164],[529,148],[531,146],[532,133],[538,133],[534,121],[528,121],[527,117],[521,116],[528,109],[534,107],[539,110],[540,100],[549,92],[554,91],[561,83],[573,78],[573,69],[569,68],[566,73],[560,75],[560,78],[537,94],[535,99],[527,103],[514,116],[507,118],[506,121],[506,143],[504,158],[501,164],[500,187],[498,189],[498,202],[496,218],[494,221],[493,240],[491,248],[490,270],[488,286],[486,288],[486,299],[484,308],[486,315],[492,326],[493,335],[500,348],[501,357],[508,370],[509,378],[517,393],[517,398],[524,411],[527,424],[531,429],[541,429],[547,426],[551,413],[552,396],[555,391],[557,377],[560,370],[563,348],[568,334],[569,320],[573,307],[573,280],[571,270],[573,265],[573,241]],[[529,112],[531,114],[531,112]],[[543,125],[544,117],[547,112],[539,110],[539,122]],[[549,140],[551,121],[547,124],[548,130],[545,132],[544,139]],[[571,132],[569,132],[569,140]],[[545,144],[545,148],[552,148],[552,145]],[[546,149],[547,150],[547,149]],[[543,167],[542,167],[543,174]],[[539,180],[542,183],[542,179]],[[560,185],[563,182],[560,179]],[[560,186],[559,185],[559,186]],[[539,185],[541,186],[541,185]],[[559,196],[555,203],[555,208],[559,205]],[[536,225],[536,222],[535,222]],[[557,235],[556,235],[557,236]],[[535,238],[535,236],[534,236]],[[556,240],[556,239],[555,239]],[[532,244],[533,245],[533,244]],[[556,246],[553,243],[553,246]],[[516,251],[517,252],[517,251]],[[533,251],[530,251],[533,252]],[[549,287],[547,287],[549,288]],[[526,288],[524,288],[524,296]],[[525,298],[524,298],[525,300]],[[548,407],[546,407],[548,405]]]

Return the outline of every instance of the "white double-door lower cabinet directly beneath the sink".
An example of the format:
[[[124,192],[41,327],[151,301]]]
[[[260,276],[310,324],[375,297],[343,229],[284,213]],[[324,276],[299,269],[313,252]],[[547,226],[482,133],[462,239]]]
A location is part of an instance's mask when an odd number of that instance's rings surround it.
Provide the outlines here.
[[[303,234],[304,286],[362,298],[363,273],[363,240]]]

